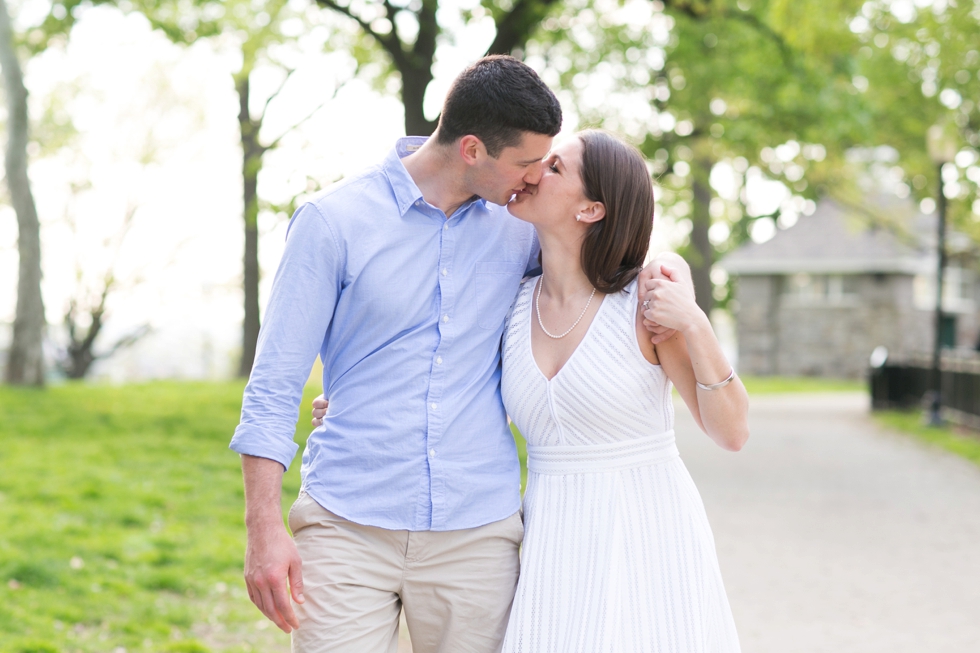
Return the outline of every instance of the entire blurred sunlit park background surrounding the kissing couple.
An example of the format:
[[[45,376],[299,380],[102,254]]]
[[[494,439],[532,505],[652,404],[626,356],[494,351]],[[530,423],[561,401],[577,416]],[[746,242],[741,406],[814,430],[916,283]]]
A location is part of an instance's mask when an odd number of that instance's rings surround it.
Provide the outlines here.
[[[0,653],[289,650],[227,450],[288,221],[431,133],[487,52],[538,71],[562,137],[640,148],[651,252],[690,263],[749,390],[737,455],[676,424],[742,650],[977,650],[980,0],[3,6],[40,257],[5,177]]]

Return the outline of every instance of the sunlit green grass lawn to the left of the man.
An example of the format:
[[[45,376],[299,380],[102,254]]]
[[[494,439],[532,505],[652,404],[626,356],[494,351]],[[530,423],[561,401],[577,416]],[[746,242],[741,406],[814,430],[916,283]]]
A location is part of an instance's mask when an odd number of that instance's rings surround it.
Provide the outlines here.
[[[0,389],[0,652],[288,650],[241,578],[242,387]]]

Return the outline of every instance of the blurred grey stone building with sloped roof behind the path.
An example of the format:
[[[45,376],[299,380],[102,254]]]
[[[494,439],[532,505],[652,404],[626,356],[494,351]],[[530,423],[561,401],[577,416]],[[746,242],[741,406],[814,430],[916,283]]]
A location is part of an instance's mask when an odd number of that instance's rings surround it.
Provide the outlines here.
[[[909,201],[868,209],[822,200],[813,215],[720,263],[735,282],[739,370],[858,378],[879,345],[890,358],[931,351],[936,216]],[[947,237],[945,346],[974,348],[980,300],[975,246]]]

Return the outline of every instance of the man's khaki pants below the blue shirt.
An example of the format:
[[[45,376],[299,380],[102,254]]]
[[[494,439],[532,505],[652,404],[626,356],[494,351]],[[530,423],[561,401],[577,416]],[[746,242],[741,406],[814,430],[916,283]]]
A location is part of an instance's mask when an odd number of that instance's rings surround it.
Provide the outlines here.
[[[300,493],[289,528],[306,602],[293,653],[395,653],[399,613],[414,653],[496,653],[524,537],[519,513],[460,531],[362,526]]]

